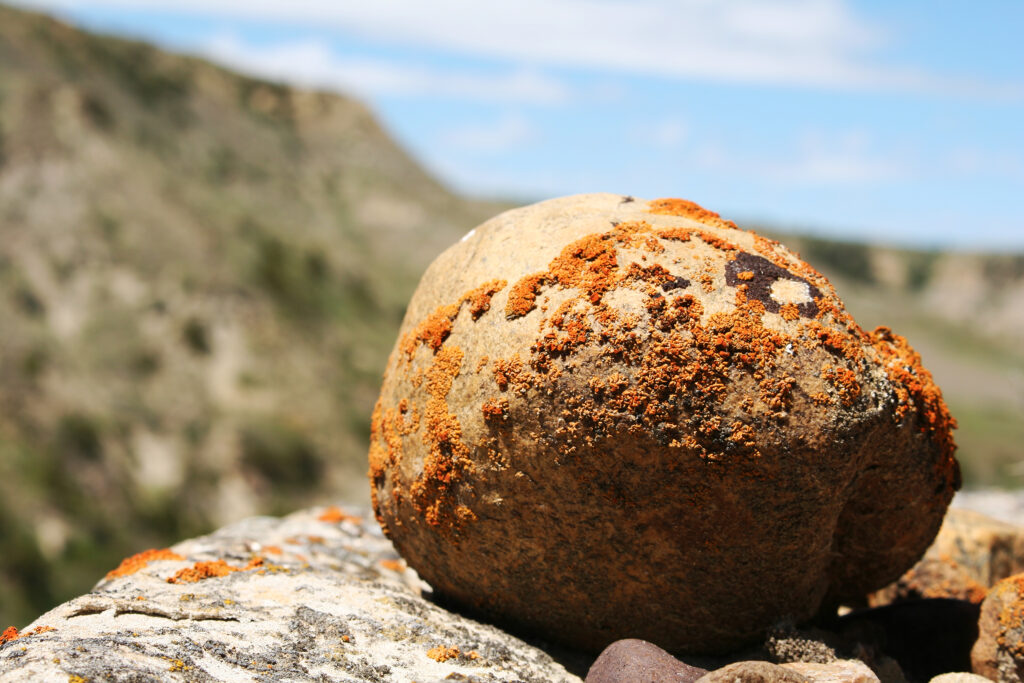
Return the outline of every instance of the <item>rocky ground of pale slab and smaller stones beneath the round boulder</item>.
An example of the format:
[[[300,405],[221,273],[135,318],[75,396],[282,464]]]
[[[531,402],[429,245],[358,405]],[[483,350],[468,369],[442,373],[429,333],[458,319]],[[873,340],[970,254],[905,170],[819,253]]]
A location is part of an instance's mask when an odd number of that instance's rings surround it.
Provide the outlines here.
[[[968,492],[955,507],[1024,521],[1022,493]],[[930,574],[929,562],[944,572]],[[90,593],[4,631],[0,681],[915,683],[958,672],[969,683],[982,680],[968,673],[972,647],[976,669],[1020,681],[1022,571],[1024,527],[957,509],[872,608],[780,624],[726,657],[683,665],[650,643],[620,641],[595,663],[449,611],[365,511],[316,508],[125,559]],[[980,638],[979,611],[988,621]]]

